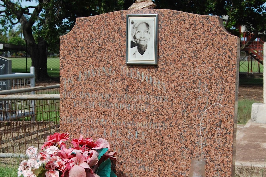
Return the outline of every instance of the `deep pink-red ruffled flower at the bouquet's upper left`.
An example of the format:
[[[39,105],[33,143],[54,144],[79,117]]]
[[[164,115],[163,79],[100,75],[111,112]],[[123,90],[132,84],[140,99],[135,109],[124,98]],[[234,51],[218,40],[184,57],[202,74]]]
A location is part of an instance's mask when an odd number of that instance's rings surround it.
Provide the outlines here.
[[[48,135],[47,139],[44,143],[44,145],[42,146],[42,150],[45,147],[50,147],[50,146],[58,146],[60,149],[62,149],[63,147],[66,147],[65,143],[63,143],[63,141],[67,141],[69,139],[69,133],[55,133],[53,135]]]

